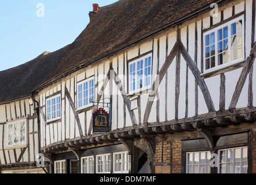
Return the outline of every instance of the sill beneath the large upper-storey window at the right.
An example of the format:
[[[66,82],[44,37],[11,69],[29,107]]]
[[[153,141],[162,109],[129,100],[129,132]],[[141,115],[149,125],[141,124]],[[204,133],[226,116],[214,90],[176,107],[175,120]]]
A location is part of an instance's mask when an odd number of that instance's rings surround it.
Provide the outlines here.
[[[235,69],[242,68],[244,62],[245,60],[233,62],[232,64],[224,65],[219,68],[206,71],[202,73],[200,76],[202,77],[202,79],[207,79],[208,77],[217,76],[217,75],[220,75],[221,73],[233,71]]]

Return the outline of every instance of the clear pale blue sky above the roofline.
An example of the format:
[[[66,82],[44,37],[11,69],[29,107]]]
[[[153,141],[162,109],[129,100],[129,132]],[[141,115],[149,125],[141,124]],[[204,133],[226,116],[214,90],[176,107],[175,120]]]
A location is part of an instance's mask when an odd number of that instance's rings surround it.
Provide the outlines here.
[[[89,24],[93,3],[118,0],[11,0],[0,2],[0,71],[28,62],[45,51],[72,43]],[[44,5],[45,17],[38,17]]]

